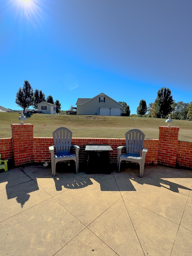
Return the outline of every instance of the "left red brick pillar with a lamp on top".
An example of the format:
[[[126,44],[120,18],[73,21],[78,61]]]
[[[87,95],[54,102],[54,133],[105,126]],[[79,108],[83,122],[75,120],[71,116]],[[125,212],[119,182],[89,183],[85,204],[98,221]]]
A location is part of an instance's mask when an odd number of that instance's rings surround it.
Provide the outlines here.
[[[34,161],[33,125],[11,124],[15,165]]]

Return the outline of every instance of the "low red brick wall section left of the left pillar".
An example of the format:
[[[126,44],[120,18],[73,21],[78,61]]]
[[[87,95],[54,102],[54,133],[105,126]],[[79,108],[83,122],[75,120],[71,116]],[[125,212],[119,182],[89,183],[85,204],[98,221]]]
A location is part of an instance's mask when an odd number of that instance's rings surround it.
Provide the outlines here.
[[[0,139],[1,159],[13,159],[13,141],[12,138]]]

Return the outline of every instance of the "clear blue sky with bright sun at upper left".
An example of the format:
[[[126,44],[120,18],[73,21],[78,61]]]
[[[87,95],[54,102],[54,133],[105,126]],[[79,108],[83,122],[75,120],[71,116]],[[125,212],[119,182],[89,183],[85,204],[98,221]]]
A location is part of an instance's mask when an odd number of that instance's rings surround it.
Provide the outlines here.
[[[0,0],[0,105],[21,109],[28,80],[68,110],[103,92],[154,102],[169,87],[192,101],[191,0]]]

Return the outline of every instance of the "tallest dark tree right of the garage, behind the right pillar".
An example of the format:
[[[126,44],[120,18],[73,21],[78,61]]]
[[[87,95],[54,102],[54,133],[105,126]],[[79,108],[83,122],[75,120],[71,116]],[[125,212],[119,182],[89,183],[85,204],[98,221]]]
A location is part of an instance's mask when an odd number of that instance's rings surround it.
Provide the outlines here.
[[[172,112],[171,105],[173,104],[173,96],[171,90],[166,87],[162,87],[157,92],[157,98],[155,100],[155,116],[158,118],[166,118],[166,116]]]

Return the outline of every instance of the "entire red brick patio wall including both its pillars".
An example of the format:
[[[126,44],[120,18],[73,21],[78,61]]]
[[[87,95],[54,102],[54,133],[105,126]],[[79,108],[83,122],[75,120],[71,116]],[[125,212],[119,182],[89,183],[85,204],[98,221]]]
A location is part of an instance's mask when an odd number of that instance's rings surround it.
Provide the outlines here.
[[[13,159],[15,165],[29,162],[51,161],[49,146],[53,138],[33,137],[32,124],[11,124],[12,138],[0,139],[0,153],[2,159]],[[179,127],[159,127],[159,140],[144,141],[143,146],[148,149],[145,164],[163,164],[175,167],[192,168],[192,142],[178,141]],[[78,145],[79,162],[87,160],[86,144],[109,144],[113,151],[109,152],[111,163],[117,162],[117,147],[125,145],[125,139],[108,138],[72,138],[72,144]],[[122,150],[125,153],[125,149]]]

